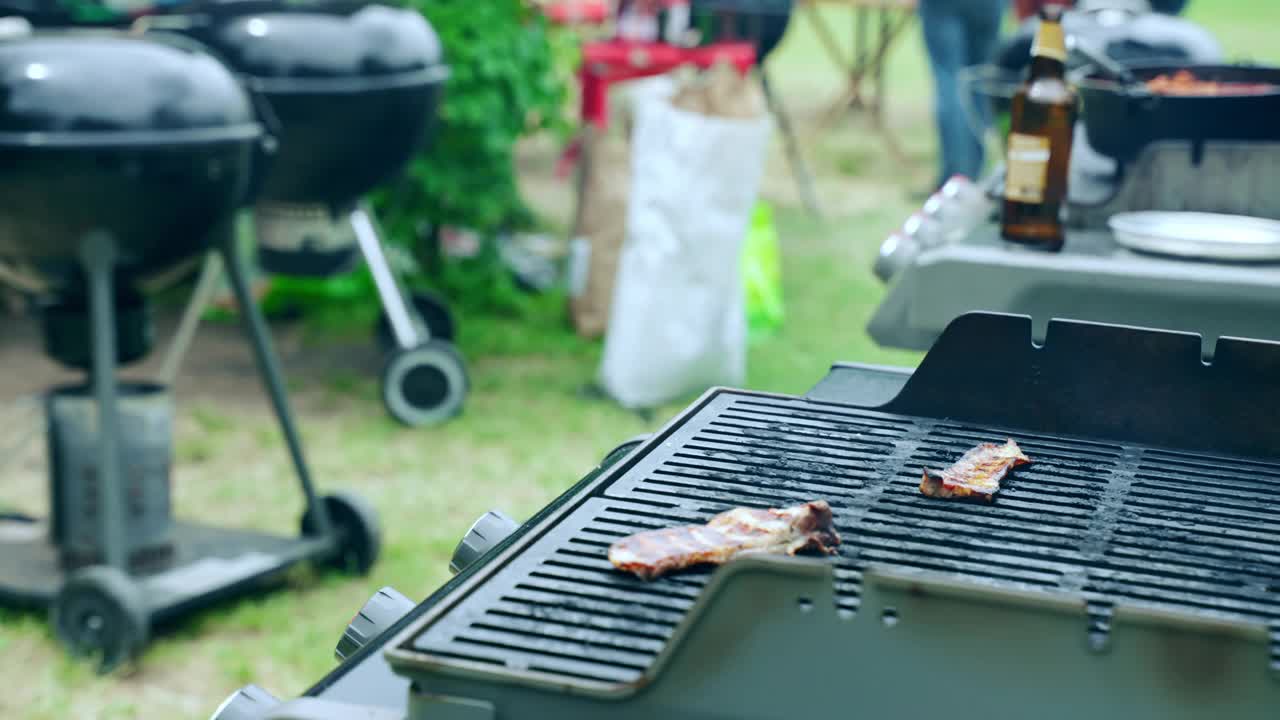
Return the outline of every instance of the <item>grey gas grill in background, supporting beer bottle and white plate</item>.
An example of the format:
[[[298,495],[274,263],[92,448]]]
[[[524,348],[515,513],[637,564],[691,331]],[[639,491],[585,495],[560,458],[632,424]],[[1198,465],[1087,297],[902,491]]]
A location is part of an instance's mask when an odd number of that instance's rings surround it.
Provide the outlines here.
[[[1097,72],[1094,60],[1105,55],[1142,78],[1188,69],[1203,78],[1251,76],[1271,83],[1280,69],[1226,65],[1204,28],[1161,14],[1130,15],[1114,5],[1078,4],[1082,10],[1064,20],[1074,49],[1069,77],[1078,85],[1082,113],[1062,251],[1029,252],[1000,237],[1002,169],[984,182],[992,213],[977,228],[968,219],[982,214],[980,201],[973,213],[959,214],[932,213],[940,205],[925,205],[925,214],[940,220],[938,233],[895,233],[881,246],[874,272],[888,288],[867,325],[877,343],[928,350],[969,310],[1030,315],[1037,340],[1050,318],[1280,340],[1270,322],[1280,313],[1280,265],[1139,254],[1117,243],[1107,225],[1119,213],[1143,210],[1280,218],[1280,202],[1267,190],[1280,173],[1280,126],[1258,122],[1275,114],[1270,104],[1280,102],[1280,94],[1139,102],[1102,81],[1106,73]],[[1004,118],[997,127],[1007,128],[1036,24],[1005,45],[998,67],[966,70],[966,82]],[[1254,102],[1267,104],[1266,111],[1254,111]],[[914,234],[910,227],[904,225],[905,234]]]

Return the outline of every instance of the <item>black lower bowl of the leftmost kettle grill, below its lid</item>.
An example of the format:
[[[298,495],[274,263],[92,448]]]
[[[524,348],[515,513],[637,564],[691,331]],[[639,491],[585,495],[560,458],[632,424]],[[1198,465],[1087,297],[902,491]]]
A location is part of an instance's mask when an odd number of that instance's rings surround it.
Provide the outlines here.
[[[0,279],[79,295],[79,243],[116,246],[118,282],[155,290],[212,243],[247,190],[252,140],[127,147],[0,149]]]

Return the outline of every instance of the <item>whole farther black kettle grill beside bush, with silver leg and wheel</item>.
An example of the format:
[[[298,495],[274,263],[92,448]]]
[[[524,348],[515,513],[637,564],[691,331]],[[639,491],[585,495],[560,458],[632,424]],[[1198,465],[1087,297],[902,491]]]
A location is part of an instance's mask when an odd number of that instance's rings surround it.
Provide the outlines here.
[[[360,201],[399,174],[433,132],[448,68],[426,20],[364,3],[211,1],[137,27],[195,37],[265,100],[279,152],[253,208],[260,265],[323,278],[364,256],[384,310],[388,413],[416,427],[461,411],[468,379],[449,309],[428,292],[406,300]]]

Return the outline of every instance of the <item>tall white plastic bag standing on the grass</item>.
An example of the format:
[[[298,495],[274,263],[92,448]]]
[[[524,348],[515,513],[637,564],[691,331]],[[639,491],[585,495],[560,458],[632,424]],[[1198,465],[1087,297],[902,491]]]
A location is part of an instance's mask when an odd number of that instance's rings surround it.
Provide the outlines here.
[[[709,117],[649,96],[631,138],[627,234],[600,384],[653,407],[746,379],[739,256],[771,132],[764,113]]]

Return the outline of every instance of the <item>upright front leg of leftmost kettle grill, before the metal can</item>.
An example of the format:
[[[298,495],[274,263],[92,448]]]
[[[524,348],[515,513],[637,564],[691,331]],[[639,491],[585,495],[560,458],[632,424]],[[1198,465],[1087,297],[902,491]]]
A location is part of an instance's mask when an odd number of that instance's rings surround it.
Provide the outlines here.
[[[81,246],[81,263],[88,275],[88,307],[93,327],[90,380],[97,402],[97,506],[102,519],[99,525],[99,544],[106,565],[128,571],[116,434],[120,424],[115,406],[115,288],[111,278],[115,242],[102,233],[86,237]]]

